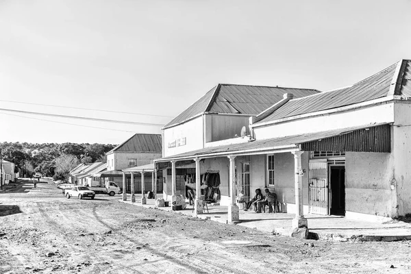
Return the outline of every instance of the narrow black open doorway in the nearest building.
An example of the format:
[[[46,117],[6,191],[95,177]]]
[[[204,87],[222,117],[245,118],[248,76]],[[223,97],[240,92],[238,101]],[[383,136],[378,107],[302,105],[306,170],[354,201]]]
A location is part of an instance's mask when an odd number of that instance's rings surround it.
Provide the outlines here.
[[[329,214],[345,216],[345,166],[329,166]]]

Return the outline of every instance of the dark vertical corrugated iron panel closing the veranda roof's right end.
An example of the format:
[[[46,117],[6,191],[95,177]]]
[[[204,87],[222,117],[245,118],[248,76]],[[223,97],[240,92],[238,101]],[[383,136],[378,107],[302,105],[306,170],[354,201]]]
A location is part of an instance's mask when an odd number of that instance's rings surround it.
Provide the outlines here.
[[[391,126],[378,125],[339,136],[301,143],[301,150],[391,152]]]

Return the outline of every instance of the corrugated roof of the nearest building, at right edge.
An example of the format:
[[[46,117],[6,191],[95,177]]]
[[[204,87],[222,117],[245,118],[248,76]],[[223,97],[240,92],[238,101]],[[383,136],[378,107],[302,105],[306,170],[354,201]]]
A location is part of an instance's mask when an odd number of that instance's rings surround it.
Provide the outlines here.
[[[300,114],[330,110],[362,103],[388,95],[411,96],[411,61],[401,60],[352,86],[292,99],[271,115],[258,121],[264,123]]]

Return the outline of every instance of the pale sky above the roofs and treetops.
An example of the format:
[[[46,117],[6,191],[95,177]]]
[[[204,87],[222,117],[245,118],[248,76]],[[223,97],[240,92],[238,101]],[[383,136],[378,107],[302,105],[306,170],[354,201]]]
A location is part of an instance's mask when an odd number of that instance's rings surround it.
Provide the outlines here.
[[[219,83],[348,86],[411,59],[410,10],[410,0],[0,0],[0,142],[160,134]]]

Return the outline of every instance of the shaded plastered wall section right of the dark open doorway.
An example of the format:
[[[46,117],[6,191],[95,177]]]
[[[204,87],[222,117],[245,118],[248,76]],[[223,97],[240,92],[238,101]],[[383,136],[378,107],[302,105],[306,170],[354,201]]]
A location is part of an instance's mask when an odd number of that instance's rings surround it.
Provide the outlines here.
[[[390,153],[345,154],[345,210],[375,216],[391,216]]]

